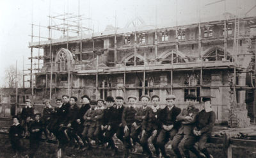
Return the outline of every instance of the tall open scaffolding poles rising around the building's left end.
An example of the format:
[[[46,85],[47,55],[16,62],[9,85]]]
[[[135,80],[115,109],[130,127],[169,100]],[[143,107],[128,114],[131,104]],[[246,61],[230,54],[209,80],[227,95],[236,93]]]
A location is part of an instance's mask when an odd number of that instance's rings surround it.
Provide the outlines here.
[[[80,1],[79,1],[80,3]],[[82,54],[82,40],[83,40],[83,35],[86,33],[90,33],[91,31],[93,32],[93,29],[88,28],[88,27],[84,27],[83,26],[83,22],[85,21],[90,21],[92,20],[90,17],[84,17],[84,15],[80,15],[80,4],[78,3],[78,15],[76,15],[75,13],[63,13],[63,14],[58,14],[58,15],[51,15],[51,3],[50,3],[50,9],[49,9],[49,24],[48,26],[42,26],[40,23],[39,24],[34,24],[33,23],[33,18],[32,18],[32,24],[31,24],[31,43],[35,42],[35,39],[38,39],[38,45],[36,47],[31,47],[31,57],[30,59],[30,68],[28,70],[24,70],[23,68],[23,72],[27,72],[27,73],[23,73],[23,87],[25,87],[25,83],[29,82],[30,88],[31,88],[31,95],[32,95],[32,99],[34,96],[34,88],[35,88],[35,75],[36,72],[39,73],[42,65],[45,64],[50,64],[51,65],[51,74],[50,74],[50,97],[49,99],[51,99],[51,94],[52,94],[52,67],[53,67],[53,54],[52,54],[52,39],[56,39],[58,37],[56,36],[61,36],[61,38],[66,38],[67,41],[65,42],[67,44],[67,49],[68,49],[68,38],[70,36],[81,36],[81,52],[80,54]],[[33,17],[33,13],[32,13],[32,17]],[[38,29],[38,35],[35,34],[35,27]],[[90,27],[90,26],[89,26]],[[48,29],[48,36],[42,36],[42,31],[41,29]],[[52,30],[54,30],[57,35],[55,37],[52,36]],[[40,41],[42,39],[47,39],[49,40],[50,44],[49,44],[49,49],[50,49],[50,55],[49,56],[44,56],[42,55],[42,49],[44,49],[43,45],[41,45]],[[35,50],[33,49],[38,49],[38,55],[35,55]],[[50,59],[50,62],[44,62],[44,59]],[[43,61],[43,62],[42,62]],[[29,72],[29,73],[28,73]],[[70,79],[70,72],[68,73],[68,83],[69,83],[69,79]],[[25,81],[26,76],[30,76],[30,79],[28,81]],[[56,76],[56,73],[55,73]],[[48,75],[46,74],[45,76],[45,91],[47,91],[47,80],[48,80]],[[56,80],[56,79],[55,79]],[[68,93],[69,93],[69,88],[70,88],[70,84],[68,84]],[[55,88],[56,90],[56,88]]]

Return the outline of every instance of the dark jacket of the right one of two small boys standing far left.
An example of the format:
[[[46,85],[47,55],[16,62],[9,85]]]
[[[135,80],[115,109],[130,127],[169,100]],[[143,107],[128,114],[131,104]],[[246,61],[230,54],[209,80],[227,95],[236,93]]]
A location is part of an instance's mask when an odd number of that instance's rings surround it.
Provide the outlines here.
[[[37,132],[33,132],[33,129],[39,129],[39,131]],[[39,140],[41,139],[42,136],[42,130],[44,129],[44,124],[42,123],[41,120],[39,120],[38,122],[35,120],[33,122],[31,122],[30,127],[29,127],[29,132],[30,132],[30,137],[29,139],[33,139],[33,140]]]

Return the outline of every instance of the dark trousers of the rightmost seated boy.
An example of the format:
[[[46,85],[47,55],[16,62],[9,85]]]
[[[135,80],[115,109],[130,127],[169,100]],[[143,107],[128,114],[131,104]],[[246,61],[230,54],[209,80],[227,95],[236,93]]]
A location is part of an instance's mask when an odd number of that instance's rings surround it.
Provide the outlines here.
[[[200,150],[200,152],[204,153],[205,156],[209,158],[210,154],[207,151],[205,146],[209,136],[211,136],[210,133],[204,133],[201,136],[189,136],[189,138],[187,138],[184,142],[184,150],[185,150],[184,153],[186,154],[187,152],[186,150],[191,150],[191,152],[193,152],[197,157],[200,157],[200,153],[198,152],[198,150]],[[197,141],[198,141],[198,150],[196,150],[194,146]]]

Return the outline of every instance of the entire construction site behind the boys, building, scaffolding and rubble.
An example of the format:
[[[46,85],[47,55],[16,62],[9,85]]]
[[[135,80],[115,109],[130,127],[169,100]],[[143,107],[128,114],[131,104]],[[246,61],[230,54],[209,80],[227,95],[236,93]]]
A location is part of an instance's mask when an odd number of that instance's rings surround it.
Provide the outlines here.
[[[0,88],[1,128],[10,125],[26,99],[42,113],[43,100],[54,106],[62,95],[77,97],[78,105],[85,94],[92,100],[122,96],[125,102],[129,95],[159,95],[164,107],[173,94],[175,106],[183,109],[185,97],[193,94],[198,109],[202,96],[212,97],[221,130],[217,127],[209,143],[223,143],[227,152],[232,146],[256,148],[256,141],[245,140],[256,139],[256,16],[225,12],[182,23],[176,15],[165,25],[147,25],[136,16],[123,28],[108,25],[96,32],[79,10],[50,12],[45,26],[31,22],[23,87]],[[136,104],[141,106],[141,100]]]

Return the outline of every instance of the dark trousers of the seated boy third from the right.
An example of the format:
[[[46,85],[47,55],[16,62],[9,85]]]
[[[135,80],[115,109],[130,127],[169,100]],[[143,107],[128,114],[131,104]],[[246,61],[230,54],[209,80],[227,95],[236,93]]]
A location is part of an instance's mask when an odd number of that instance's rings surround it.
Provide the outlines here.
[[[165,146],[166,143],[169,141],[169,139],[173,139],[175,134],[177,133],[177,129],[172,129],[170,131],[161,129],[159,136],[157,137],[157,145],[159,146],[163,157],[166,157],[166,151],[165,151]]]

